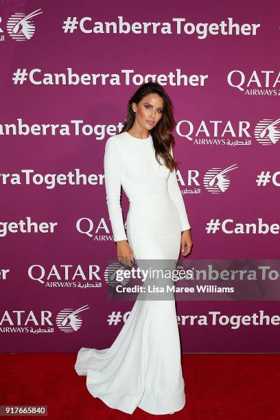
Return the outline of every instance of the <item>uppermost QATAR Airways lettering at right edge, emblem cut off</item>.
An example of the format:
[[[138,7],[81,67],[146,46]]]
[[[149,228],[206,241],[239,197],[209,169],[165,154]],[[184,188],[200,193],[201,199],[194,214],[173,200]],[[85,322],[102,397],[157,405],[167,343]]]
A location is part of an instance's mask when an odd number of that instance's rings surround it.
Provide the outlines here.
[[[248,96],[280,96],[280,71],[254,70],[244,73],[232,70],[227,75],[227,82]]]

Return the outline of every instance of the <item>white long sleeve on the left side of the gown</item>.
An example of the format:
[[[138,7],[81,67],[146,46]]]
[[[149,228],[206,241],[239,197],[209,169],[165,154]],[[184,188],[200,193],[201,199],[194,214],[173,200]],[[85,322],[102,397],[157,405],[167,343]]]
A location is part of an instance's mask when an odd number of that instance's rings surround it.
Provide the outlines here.
[[[121,155],[114,137],[109,137],[105,145],[104,176],[106,202],[114,241],[126,240],[124,219],[121,212]]]

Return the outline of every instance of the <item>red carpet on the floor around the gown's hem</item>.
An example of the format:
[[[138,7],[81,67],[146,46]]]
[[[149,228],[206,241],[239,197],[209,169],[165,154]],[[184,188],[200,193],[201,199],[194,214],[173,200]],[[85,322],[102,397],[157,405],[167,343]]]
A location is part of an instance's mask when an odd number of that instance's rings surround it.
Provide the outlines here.
[[[73,353],[1,354],[0,405],[42,404],[49,415],[39,418],[51,420],[280,419],[278,354],[183,355],[186,405],[171,416],[148,415],[140,408],[126,415],[108,408],[91,397],[74,364]]]

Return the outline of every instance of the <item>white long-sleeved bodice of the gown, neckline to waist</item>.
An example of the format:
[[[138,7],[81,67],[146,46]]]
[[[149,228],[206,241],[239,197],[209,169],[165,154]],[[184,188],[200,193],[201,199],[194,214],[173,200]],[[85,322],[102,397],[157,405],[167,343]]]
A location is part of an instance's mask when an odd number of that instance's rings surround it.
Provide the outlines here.
[[[173,152],[172,152],[173,154]],[[163,163],[162,159],[159,159]],[[104,154],[106,201],[114,240],[127,239],[121,212],[121,185],[130,203],[172,200],[182,231],[190,228],[176,171],[156,161],[152,136],[133,137],[128,132],[109,137]]]

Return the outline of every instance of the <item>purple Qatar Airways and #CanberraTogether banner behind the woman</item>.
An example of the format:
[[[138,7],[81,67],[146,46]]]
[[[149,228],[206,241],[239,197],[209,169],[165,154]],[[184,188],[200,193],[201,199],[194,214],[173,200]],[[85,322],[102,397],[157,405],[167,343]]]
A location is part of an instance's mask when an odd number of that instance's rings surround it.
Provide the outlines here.
[[[193,273],[176,290],[182,350],[280,350],[279,14],[279,1],[1,1],[1,353],[103,349],[126,322],[133,301],[108,294],[104,148],[150,81],[174,104],[194,241],[178,261]]]

